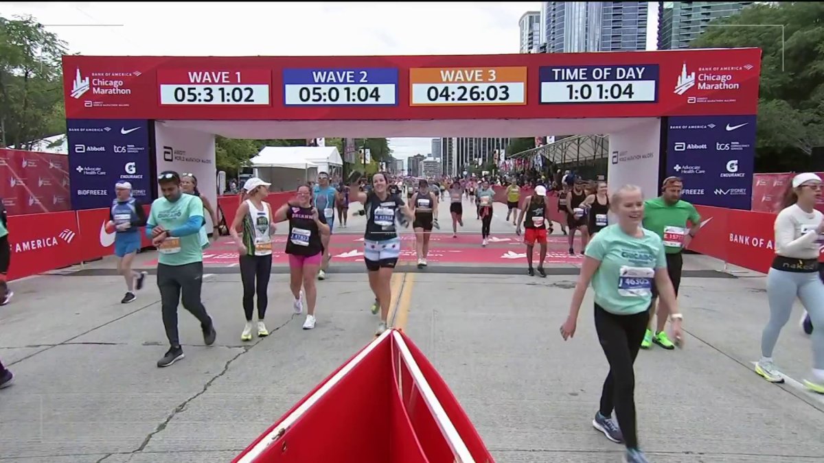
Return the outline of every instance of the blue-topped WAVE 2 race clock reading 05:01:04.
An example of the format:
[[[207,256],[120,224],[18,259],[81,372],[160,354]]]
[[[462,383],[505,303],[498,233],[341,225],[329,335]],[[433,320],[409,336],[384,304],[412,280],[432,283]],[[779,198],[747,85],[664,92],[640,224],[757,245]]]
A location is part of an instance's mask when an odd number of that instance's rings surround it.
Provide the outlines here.
[[[283,105],[394,106],[396,68],[283,69]]]

